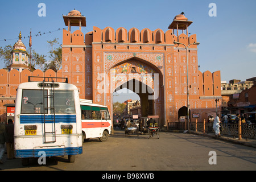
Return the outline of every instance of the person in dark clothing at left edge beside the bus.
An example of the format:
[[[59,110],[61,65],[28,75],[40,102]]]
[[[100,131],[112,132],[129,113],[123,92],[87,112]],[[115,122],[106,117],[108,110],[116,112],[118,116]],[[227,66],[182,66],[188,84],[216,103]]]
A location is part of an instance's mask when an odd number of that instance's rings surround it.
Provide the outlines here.
[[[7,159],[14,158],[14,123],[12,119],[8,119],[8,125],[5,128],[5,141],[7,150]]]

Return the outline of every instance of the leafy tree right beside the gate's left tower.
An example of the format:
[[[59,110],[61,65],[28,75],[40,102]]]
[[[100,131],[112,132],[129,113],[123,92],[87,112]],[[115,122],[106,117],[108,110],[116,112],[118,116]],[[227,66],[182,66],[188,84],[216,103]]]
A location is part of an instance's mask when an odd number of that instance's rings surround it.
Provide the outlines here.
[[[47,43],[49,44],[50,51],[49,53],[49,61],[47,67],[51,67],[52,65],[59,71],[62,65],[62,48],[58,42],[59,39],[55,38],[54,40],[49,40]]]

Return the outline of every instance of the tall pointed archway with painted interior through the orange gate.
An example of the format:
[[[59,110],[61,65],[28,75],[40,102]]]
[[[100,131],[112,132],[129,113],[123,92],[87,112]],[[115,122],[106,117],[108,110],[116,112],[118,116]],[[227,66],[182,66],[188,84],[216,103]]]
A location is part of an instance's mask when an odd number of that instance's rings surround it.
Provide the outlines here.
[[[119,61],[106,72],[110,84],[108,86],[110,97],[122,88],[127,88],[138,94],[141,101],[142,117],[159,115],[160,125],[165,125],[163,74],[154,64],[132,57]],[[113,110],[113,99],[109,103]]]

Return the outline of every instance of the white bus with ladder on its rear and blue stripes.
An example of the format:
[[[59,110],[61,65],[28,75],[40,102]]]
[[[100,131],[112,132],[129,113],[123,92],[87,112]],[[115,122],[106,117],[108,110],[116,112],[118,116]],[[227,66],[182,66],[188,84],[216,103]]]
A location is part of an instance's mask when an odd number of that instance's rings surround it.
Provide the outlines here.
[[[28,82],[18,86],[14,148],[23,165],[42,154],[67,155],[69,162],[82,154],[79,91],[67,78],[28,77]]]

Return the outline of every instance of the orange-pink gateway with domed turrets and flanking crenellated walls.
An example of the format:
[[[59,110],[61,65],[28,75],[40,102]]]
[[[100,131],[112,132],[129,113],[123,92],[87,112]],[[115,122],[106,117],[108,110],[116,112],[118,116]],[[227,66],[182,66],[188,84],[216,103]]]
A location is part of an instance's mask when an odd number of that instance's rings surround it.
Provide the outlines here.
[[[68,30],[63,30],[61,71],[20,73],[2,69],[2,98],[14,98],[18,84],[30,75],[68,77],[79,88],[81,98],[108,106],[110,113],[113,93],[122,88],[132,90],[140,97],[142,117],[159,115],[160,125],[164,126],[187,115],[188,82],[191,121],[203,121],[209,113],[221,111],[220,71],[199,71],[196,45],[188,48],[187,79],[186,49],[174,41],[188,46],[197,38],[196,34],[189,36],[192,22],[184,14],[175,16],[166,32],[159,28],[139,31],[135,27],[93,27],[93,31],[84,34],[81,27],[86,26],[86,20],[79,11],[72,10],[63,18]],[[71,32],[72,26],[80,28]],[[0,108],[3,113],[3,106]]]

